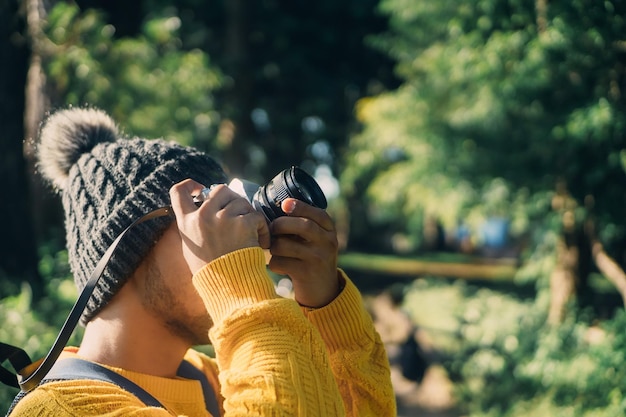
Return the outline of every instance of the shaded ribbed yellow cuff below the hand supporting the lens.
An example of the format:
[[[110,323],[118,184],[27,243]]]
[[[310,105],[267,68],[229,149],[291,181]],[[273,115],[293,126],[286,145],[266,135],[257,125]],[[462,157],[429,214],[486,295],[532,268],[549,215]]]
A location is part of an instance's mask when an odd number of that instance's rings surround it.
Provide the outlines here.
[[[365,343],[370,338],[371,317],[363,306],[363,299],[356,286],[342,270],[339,270],[346,285],[330,304],[311,309],[302,307],[304,315],[319,329],[330,351]]]

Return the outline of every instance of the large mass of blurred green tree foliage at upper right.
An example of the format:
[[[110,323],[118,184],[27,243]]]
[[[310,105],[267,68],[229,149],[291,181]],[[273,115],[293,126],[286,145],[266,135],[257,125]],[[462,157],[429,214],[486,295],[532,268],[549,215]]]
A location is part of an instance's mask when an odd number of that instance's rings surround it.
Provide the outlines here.
[[[341,178],[365,200],[355,237],[387,227],[419,247],[428,216],[476,231],[502,215],[523,236],[550,227],[561,183],[593,202],[605,246],[623,246],[624,3],[543,3],[381,3],[392,31],[370,42],[404,82],[357,107]]]

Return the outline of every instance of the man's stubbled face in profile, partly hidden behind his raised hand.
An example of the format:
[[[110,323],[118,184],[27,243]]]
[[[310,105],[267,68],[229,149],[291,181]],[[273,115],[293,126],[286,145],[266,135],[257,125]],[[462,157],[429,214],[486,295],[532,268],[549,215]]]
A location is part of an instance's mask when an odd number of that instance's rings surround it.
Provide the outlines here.
[[[142,304],[176,336],[191,345],[209,343],[213,325],[191,281],[176,222],[167,228],[146,258]]]

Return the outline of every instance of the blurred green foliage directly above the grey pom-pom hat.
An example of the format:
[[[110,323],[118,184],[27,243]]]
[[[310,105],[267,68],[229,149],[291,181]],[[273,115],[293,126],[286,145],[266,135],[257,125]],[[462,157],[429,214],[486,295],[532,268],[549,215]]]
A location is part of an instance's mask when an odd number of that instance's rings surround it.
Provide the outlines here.
[[[153,16],[140,36],[116,39],[100,13],[59,2],[43,49],[55,106],[93,105],[132,135],[215,147],[222,75],[203,51],[182,50],[180,25],[176,15]]]

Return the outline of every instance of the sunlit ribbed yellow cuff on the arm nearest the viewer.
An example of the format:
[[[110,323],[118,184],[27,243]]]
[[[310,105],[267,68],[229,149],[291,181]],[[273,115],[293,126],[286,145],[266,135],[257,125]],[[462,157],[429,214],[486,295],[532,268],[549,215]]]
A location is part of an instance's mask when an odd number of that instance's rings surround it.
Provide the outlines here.
[[[193,284],[214,323],[238,308],[277,297],[260,247],[240,249],[213,260],[196,272]]]

